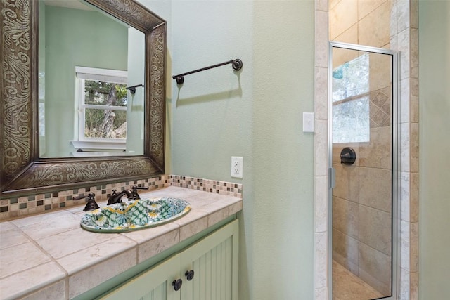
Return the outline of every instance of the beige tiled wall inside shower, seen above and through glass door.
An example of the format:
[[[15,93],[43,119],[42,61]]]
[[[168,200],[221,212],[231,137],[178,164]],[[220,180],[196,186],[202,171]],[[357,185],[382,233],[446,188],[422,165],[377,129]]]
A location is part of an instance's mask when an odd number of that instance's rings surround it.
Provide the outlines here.
[[[389,48],[391,6],[391,1],[330,1],[330,40]],[[333,67],[359,55],[333,51]],[[370,141],[333,144],[333,259],[386,295],[392,260],[390,58],[371,53],[369,65]],[[351,166],[340,164],[347,146],[356,151]]]

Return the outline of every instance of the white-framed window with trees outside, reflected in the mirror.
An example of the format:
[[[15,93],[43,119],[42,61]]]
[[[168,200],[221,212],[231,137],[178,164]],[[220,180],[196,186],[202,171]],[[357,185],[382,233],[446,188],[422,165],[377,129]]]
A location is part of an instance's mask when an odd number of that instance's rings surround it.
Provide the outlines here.
[[[77,66],[75,78],[78,132],[72,145],[77,152],[126,151],[127,72]]]

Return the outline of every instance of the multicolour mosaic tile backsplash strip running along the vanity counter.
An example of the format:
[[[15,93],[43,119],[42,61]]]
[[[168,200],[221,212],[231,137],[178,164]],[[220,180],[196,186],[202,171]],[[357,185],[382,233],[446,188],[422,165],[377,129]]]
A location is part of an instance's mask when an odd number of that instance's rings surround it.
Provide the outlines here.
[[[217,193],[220,195],[242,197],[242,184],[240,183],[213,181],[210,179],[179,175],[162,175],[136,181],[124,181],[122,183],[96,185],[86,188],[77,188],[75,190],[62,190],[53,193],[11,197],[10,199],[0,200],[0,220],[6,221],[18,216],[53,211],[54,209],[71,207],[74,205],[84,205],[86,204],[86,199],[74,200],[73,198],[80,195],[87,195],[87,193],[96,194],[96,201],[108,200],[108,197],[113,193],[113,190],[120,191],[131,188],[133,185],[137,185],[140,188],[148,187],[148,190],[177,186],[180,188],[203,190],[205,192]],[[146,191],[142,190],[140,193],[145,192]]]

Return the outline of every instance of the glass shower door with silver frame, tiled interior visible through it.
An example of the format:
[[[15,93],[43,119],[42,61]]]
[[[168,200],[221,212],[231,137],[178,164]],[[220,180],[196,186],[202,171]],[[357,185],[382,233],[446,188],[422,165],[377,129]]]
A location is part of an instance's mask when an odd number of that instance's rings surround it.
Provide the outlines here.
[[[330,299],[397,294],[397,52],[330,43]]]

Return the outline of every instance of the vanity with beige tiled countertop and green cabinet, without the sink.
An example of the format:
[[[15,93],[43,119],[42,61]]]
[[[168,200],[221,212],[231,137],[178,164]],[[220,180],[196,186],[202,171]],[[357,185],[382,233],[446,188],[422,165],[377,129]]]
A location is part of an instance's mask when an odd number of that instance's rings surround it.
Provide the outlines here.
[[[83,230],[84,206],[0,223],[0,298],[237,299],[242,198],[174,186],[141,193],[150,197],[184,199],[192,209],[126,233]]]

